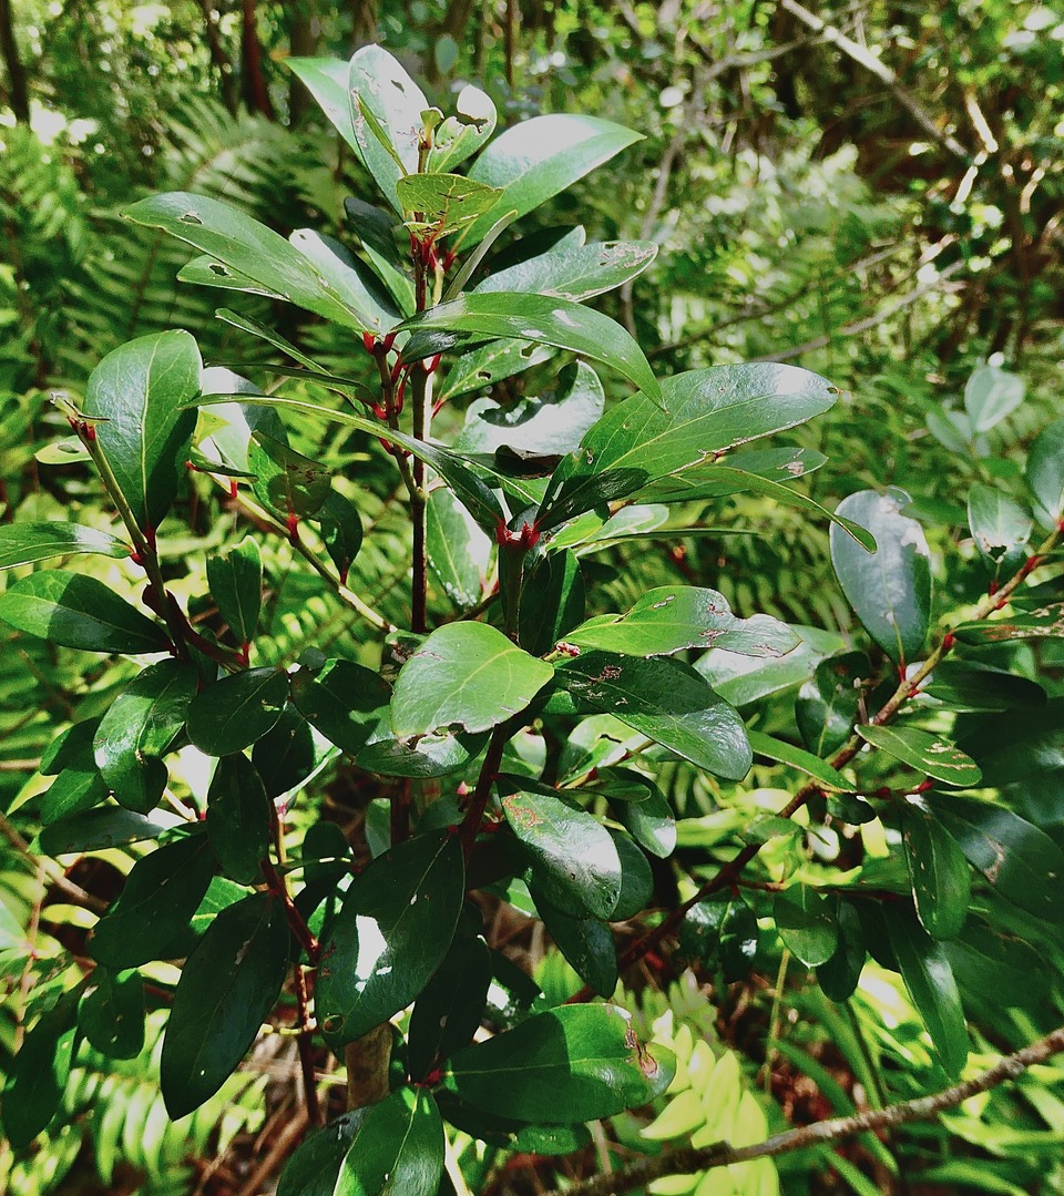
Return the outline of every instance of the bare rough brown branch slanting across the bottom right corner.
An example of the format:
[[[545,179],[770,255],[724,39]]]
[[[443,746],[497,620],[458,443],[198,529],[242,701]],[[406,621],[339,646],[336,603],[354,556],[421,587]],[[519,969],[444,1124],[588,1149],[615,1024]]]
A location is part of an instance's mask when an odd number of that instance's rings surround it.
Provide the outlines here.
[[[623,1192],[643,1188],[661,1176],[711,1171],[715,1167],[726,1167],[735,1163],[750,1163],[753,1159],[789,1154],[791,1151],[801,1151],[807,1146],[838,1142],[842,1139],[852,1137],[855,1134],[866,1134],[869,1130],[892,1129],[912,1121],[929,1121],[947,1109],[954,1109],[970,1097],[989,1092],[1007,1080],[1017,1079],[1027,1068],[1044,1063],[1060,1051],[1064,1051],[1064,1026],[1013,1055],[1005,1055],[989,1072],[984,1072],[972,1080],[965,1080],[962,1084],[955,1084],[953,1087],[943,1088],[930,1097],[903,1100],[900,1104],[888,1105],[886,1109],[869,1109],[855,1113],[852,1117],[832,1117],[827,1121],[813,1122],[812,1125],[802,1125],[783,1134],[773,1134],[753,1146],[734,1147],[728,1142],[714,1142],[711,1146],[701,1148],[681,1147],[655,1159],[643,1159],[622,1171],[614,1171],[611,1176],[595,1176],[586,1183],[574,1184],[565,1189],[564,1194],[556,1190],[548,1192],[546,1196],[622,1196]]]

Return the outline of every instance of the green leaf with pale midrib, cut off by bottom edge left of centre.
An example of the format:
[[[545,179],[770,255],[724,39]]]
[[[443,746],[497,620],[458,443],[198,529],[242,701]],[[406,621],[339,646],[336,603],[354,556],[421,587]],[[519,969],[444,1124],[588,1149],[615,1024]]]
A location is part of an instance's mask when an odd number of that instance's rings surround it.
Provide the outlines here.
[[[403,1087],[366,1113],[334,1196],[436,1196],[442,1174],[440,1110],[430,1092]]]

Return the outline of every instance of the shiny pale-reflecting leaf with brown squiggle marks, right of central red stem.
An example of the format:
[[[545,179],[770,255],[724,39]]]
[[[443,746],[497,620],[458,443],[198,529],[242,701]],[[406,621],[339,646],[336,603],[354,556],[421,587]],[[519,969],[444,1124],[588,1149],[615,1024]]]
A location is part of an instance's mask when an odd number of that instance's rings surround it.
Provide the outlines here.
[[[528,791],[505,797],[502,810],[554,904],[599,919],[612,915],[620,896],[620,856],[597,818]]]

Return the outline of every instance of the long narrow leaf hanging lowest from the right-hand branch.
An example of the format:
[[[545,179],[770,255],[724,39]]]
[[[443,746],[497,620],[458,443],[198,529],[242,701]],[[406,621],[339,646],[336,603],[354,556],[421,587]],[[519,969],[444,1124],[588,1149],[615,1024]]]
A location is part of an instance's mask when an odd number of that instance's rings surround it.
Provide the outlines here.
[[[946,951],[910,910],[885,904],[882,916],[912,1003],[928,1027],[947,1075],[958,1076],[968,1058],[968,1031]]]

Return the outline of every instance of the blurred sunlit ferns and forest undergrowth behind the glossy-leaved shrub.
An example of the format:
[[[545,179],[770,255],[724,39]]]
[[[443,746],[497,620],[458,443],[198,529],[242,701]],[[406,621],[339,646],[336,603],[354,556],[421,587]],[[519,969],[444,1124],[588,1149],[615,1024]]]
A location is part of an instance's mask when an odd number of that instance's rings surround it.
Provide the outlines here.
[[[652,269],[609,297],[606,310],[637,335],[660,374],[740,360],[824,373],[845,395],[797,437],[828,457],[809,493],[833,507],[862,487],[904,486],[932,543],[956,543],[970,483],[1015,476],[1014,452],[1059,414],[1064,6],[809,5],[0,0],[0,519],[98,504],[77,466],[42,469],[35,454],[61,431],[50,389],[77,395],[115,346],[182,327],[208,362],[261,360],[256,342],[214,319],[216,295],[176,281],[188,250],[116,212],[139,195],[181,189],[225,197],[286,234],[302,225],[342,233],[343,199],[369,188],[285,60],[347,57],[378,41],[428,80],[430,98],[475,80],[505,122],[593,112],[642,132],[643,141],[542,218],[579,219],[594,238],[660,244]],[[256,313],[253,304],[243,310]],[[292,307],[270,310],[268,300],[257,315],[320,360],[342,362],[342,372],[363,368],[336,329]],[[961,396],[986,361],[1020,374],[1027,398],[974,437]],[[512,385],[516,395],[525,383]],[[359,468],[357,454],[349,460]],[[366,482],[373,494],[373,478]],[[363,513],[386,533],[389,495],[378,489]],[[213,517],[197,495],[192,488],[183,508],[184,538],[171,530],[171,550],[198,553],[210,539]],[[845,628],[825,529],[748,498],[720,514],[729,520],[763,535],[629,551],[604,563],[601,580],[631,598],[684,576],[716,586],[744,611]],[[398,519],[395,533],[403,533]],[[312,633],[317,642],[347,642],[349,627],[316,580],[279,553],[270,628],[279,659],[294,658]],[[403,602],[396,592],[389,609],[399,566],[403,554],[391,560],[380,536],[356,562],[355,580],[391,618]],[[952,584],[965,585],[964,569]],[[50,725],[41,710],[54,719],[77,704],[87,716],[93,694],[102,707],[121,679],[110,675],[100,690],[104,681],[86,676],[75,654],[25,642],[4,651],[0,808],[39,758]],[[711,855],[736,811],[721,810],[717,794],[686,776],[672,797],[687,818],[689,859]],[[336,782],[326,800],[365,810],[368,798],[341,793]],[[17,823],[4,820],[0,841],[0,983],[16,997],[26,972],[11,944],[29,933],[47,954],[77,950],[80,933],[61,889],[26,869],[19,850],[32,828]],[[91,879],[74,878],[110,896]],[[533,951],[532,963],[548,987],[557,957]],[[940,1086],[897,977],[882,974],[845,1017],[815,988],[789,994],[781,1008],[771,986],[757,981],[732,984],[708,1017],[690,980],[644,994],[648,1017],[672,1019],[668,1032],[687,1050],[692,1033],[735,1050],[751,1084],[775,1097],[770,1128],[773,1117],[800,1124]],[[18,1001],[5,1003],[2,1056],[19,1038]],[[794,1029],[783,1035],[788,1018]],[[984,1026],[986,1050],[1031,1037],[1037,1027],[1025,1019],[1020,1011],[1015,1025]],[[4,1155],[0,1189],[268,1190],[257,1160],[283,1136],[292,1058],[279,1048],[246,1076],[250,1086],[224,1090],[175,1137],[155,1087],[140,1082],[154,1045],[149,1038],[145,1056],[121,1072],[79,1073],[54,1149],[31,1163]],[[1023,1081],[1021,1096],[995,1093],[947,1125],[862,1140],[830,1159],[802,1155],[781,1165],[783,1188],[1064,1191],[1058,1079],[1046,1067]],[[537,1182],[533,1171],[513,1190],[534,1191]]]

